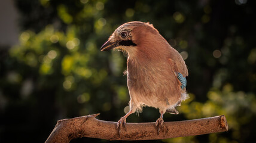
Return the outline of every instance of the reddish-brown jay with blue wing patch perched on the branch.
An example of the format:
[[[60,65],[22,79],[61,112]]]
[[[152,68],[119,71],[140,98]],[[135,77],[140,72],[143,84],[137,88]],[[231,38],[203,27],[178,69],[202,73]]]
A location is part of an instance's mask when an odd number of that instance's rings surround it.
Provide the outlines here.
[[[153,24],[130,21],[109,36],[100,51],[121,49],[127,52],[127,86],[129,112],[117,122],[126,126],[126,118],[145,106],[159,109],[158,132],[163,127],[163,114],[178,114],[177,106],[188,98],[188,69],[181,54],[172,48]]]

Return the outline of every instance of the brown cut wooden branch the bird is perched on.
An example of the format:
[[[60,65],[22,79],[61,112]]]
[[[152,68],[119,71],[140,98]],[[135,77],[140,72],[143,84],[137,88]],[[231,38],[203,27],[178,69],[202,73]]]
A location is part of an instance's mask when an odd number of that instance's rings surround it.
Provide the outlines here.
[[[109,140],[149,140],[166,139],[181,136],[202,135],[228,130],[225,116],[208,117],[196,120],[164,122],[159,135],[155,123],[127,123],[126,129],[118,132],[117,122],[97,120],[93,114],[73,119],[63,119],[57,124],[46,143],[69,142],[74,138],[100,138]]]

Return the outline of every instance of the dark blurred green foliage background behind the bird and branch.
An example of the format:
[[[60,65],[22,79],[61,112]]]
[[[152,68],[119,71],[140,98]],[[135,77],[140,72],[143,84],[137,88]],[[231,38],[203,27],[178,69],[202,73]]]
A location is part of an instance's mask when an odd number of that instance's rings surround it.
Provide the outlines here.
[[[120,24],[150,21],[189,69],[190,98],[165,121],[224,114],[229,131],[163,141],[249,142],[255,139],[255,2],[16,0],[20,44],[0,48],[0,142],[44,142],[57,120],[127,112],[126,56],[100,52]],[[145,107],[127,122],[155,122]],[[72,142],[108,142],[82,138]],[[117,141],[118,142],[118,141]]]

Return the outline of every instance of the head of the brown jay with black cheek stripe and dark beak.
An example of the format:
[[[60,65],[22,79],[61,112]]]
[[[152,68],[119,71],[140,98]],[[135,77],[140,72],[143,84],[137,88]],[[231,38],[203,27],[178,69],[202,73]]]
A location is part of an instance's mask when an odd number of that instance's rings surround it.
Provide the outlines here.
[[[152,24],[139,21],[124,23],[115,29],[108,41],[102,45],[100,51],[117,48],[131,55],[135,51],[149,48],[151,43],[156,44],[159,36],[161,37]]]

